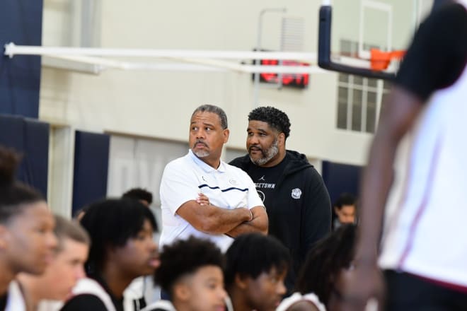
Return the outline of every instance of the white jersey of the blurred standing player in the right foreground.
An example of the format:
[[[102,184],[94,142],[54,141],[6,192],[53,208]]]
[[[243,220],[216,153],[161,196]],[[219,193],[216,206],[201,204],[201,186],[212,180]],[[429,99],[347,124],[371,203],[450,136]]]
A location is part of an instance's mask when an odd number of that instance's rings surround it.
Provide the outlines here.
[[[467,2],[467,1],[463,1]],[[396,158],[379,264],[467,287],[467,70],[432,95]]]

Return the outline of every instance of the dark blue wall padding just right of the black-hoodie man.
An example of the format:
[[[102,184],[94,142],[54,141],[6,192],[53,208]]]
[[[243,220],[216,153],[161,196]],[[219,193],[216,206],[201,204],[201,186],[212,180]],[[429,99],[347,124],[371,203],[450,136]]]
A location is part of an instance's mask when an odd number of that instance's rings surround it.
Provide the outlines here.
[[[323,161],[323,180],[328,187],[332,204],[342,192],[358,196],[362,172],[361,166]]]

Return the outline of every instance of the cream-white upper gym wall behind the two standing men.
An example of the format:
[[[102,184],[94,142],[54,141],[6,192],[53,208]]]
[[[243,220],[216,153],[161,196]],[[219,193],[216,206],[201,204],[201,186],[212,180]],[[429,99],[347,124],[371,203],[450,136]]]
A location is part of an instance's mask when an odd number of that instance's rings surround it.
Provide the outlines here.
[[[43,45],[79,41],[76,14],[80,13],[73,2],[45,0]],[[287,16],[305,18],[306,52],[317,48],[318,0],[94,2],[101,16],[93,35],[100,34],[96,42],[102,47],[251,50],[261,9],[286,6]],[[352,9],[358,13],[358,1]],[[352,11],[347,15],[352,16]],[[266,14],[264,48],[279,47],[279,29],[279,14]],[[261,89],[260,102],[289,115],[292,134],[287,148],[306,153],[309,158],[361,165],[371,136],[335,129],[336,76],[313,74],[307,90]],[[249,75],[105,71],[93,76],[42,69],[40,119],[77,129],[186,141],[192,110],[202,103],[214,103],[226,110],[231,129],[229,147],[244,148],[246,116],[253,108]]]

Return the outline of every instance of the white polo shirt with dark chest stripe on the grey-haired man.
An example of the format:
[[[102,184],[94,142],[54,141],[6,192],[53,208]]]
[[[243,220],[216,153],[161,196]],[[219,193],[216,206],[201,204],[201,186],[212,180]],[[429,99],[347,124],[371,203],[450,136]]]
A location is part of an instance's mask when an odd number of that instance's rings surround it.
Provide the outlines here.
[[[192,151],[166,165],[161,180],[162,233],[159,247],[190,235],[208,238],[225,252],[233,239],[227,235],[203,233],[176,212],[180,206],[195,200],[202,192],[209,203],[224,209],[263,206],[253,180],[240,168],[221,161],[214,169],[197,158]]]

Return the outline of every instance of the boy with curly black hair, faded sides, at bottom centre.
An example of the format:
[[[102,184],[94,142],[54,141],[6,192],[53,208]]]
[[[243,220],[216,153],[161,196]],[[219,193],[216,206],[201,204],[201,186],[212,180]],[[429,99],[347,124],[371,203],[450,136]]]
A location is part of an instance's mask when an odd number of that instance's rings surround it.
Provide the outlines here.
[[[189,237],[166,245],[155,282],[171,296],[144,311],[224,310],[224,255],[213,242]]]

